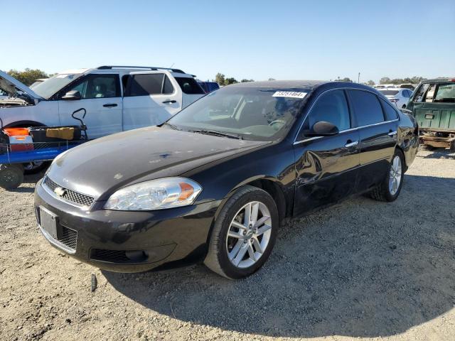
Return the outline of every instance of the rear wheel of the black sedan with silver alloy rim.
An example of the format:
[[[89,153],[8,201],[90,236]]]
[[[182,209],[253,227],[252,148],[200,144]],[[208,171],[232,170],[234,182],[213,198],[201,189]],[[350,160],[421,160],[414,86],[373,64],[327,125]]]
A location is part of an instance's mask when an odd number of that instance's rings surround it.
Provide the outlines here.
[[[397,149],[393,154],[387,176],[370,192],[370,197],[379,201],[394,201],[400,195],[405,175],[405,156]]]

